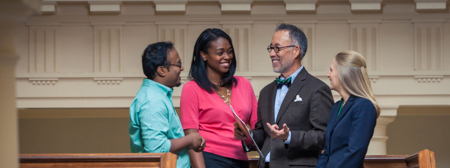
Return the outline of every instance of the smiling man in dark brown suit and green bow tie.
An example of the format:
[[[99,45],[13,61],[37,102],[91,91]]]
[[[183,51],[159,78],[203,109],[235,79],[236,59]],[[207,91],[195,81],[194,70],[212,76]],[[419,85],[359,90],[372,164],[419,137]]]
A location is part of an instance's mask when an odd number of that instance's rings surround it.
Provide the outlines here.
[[[275,31],[267,50],[273,71],[280,76],[261,90],[258,121],[252,130],[265,156],[259,167],[314,168],[325,144],[333,97],[329,86],[302,65],[308,46],[303,31],[285,23]],[[245,139],[238,128],[234,135]]]

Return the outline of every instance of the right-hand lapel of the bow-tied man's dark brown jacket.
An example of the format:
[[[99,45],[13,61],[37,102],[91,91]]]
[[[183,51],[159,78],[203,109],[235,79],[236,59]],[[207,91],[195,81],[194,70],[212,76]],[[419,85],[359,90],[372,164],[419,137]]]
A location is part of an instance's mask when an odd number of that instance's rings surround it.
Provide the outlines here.
[[[307,74],[308,74],[308,71],[306,71],[305,67],[303,67],[303,69],[300,72],[298,72],[297,77],[295,77],[294,82],[289,87],[288,93],[286,93],[286,96],[284,97],[283,102],[281,103],[280,110],[278,111],[278,116],[277,116],[277,120],[275,121],[275,124],[278,124],[281,116],[283,116],[284,112],[286,111],[286,108],[288,108],[289,104],[292,102],[292,100],[298,94],[298,91],[305,84],[304,80],[306,79]],[[274,97],[274,100],[275,100],[275,97]],[[274,102],[274,104],[275,104],[275,102]]]

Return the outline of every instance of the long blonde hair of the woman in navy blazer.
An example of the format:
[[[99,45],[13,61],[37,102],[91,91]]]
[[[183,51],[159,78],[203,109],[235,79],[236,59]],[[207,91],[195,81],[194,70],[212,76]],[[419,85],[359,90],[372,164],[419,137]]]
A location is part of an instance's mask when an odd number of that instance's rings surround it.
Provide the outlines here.
[[[335,61],[338,79],[344,90],[351,95],[369,99],[374,104],[378,117],[380,115],[380,107],[375,101],[375,96],[370,86],[364,57],[358,52],[344,51],[336,55]]]

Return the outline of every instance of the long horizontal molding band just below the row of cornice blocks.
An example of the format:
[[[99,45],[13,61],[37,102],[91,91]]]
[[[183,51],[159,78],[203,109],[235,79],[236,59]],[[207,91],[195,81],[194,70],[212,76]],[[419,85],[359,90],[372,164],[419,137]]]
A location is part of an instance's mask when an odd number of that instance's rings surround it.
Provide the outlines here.
[[[60,16],[55,15],[51,18],[47,16],[32,16],[27,20],[27,25],[39,24],[39,25],[48,25],[49,23],[54,22],[55,24],[60,24],[60,22],[104,22],[105,20],[109,20],[114,18],[114,20],[107,22],[270,22],[270,21],[284,21],[284,20],[294,20],[297,22],[304,21],[333,21],[337,20],[346,20],[347,22],[388,22],[391,20],[405,20],[407,22],[447,22],[450,19],[448,13],[425,13],[425,14],[416,14],[416,13],[383,13],[376,16],[373,15],[352,15],[347,13],[341,14],[315,14],[315,15],[301,15],[301,14],[277,14],[269,15],[269,14],[252,14],[251,16],[242,16],[239,17],[237,21],[233,16],[220,15],[220,14],[210,14],[210,15],[197,15],[197,14],[189,14],[189,15],[180,15],[177,17],[172,17],[170,15],[94,15],[94,16]],[[47,22],[46,22],[47,21]]]

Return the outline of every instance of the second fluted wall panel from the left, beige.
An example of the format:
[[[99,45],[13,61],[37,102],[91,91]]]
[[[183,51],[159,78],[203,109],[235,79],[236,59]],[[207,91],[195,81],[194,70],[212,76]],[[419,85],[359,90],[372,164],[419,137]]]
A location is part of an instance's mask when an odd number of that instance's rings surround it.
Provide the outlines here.
[[[94,72],[122,72],[122,26],[94,26]]]

